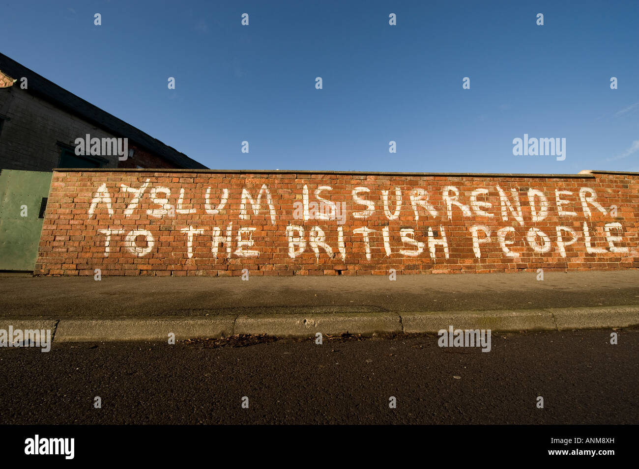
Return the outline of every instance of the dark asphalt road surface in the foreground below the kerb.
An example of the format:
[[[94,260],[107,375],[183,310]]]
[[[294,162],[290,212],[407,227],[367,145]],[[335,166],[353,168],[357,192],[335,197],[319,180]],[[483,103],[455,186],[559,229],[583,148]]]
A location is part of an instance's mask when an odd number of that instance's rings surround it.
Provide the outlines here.
[[[611,332],[0,348],[0,423],[638,424],[639,330]]]

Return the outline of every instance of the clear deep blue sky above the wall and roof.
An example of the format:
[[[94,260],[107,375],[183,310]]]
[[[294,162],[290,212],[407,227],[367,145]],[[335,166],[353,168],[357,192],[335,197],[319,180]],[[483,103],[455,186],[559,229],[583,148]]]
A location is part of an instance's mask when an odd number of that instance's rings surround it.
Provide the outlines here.
[[[4,54],[210,168],[639,171],[637,1],[0,0],[0,11]],[[513,156],[524,133],[566,138],[566,160]]]

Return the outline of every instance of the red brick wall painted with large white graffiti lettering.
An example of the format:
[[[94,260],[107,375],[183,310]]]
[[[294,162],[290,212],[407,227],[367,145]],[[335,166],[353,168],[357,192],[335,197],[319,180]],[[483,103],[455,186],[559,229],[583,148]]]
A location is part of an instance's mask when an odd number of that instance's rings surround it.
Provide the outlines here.
[[[263,185],[271,204],[263,191],[258,209],[247,196],[257,205]],[[166,195],[160,186],[170,191],[167,201],[157,200]],[[324,212],[333,220],[316,219],[319,186],[332,188],[319,197],[339,202],[341,211]],[[397,214],[396,188],[402,198]],[[134,191],[141,191],[137,201]],[[534,191],[546,198],[545,212],[543,197]],[[183,276],[241,275],[248,269],[251,275],[352,275],[390,269],[418,274],[637,268],[638,194],[638,174],[55,172],[35,272]],[[303,234],[298,228],[287,232],[289,225],[304,228]]]

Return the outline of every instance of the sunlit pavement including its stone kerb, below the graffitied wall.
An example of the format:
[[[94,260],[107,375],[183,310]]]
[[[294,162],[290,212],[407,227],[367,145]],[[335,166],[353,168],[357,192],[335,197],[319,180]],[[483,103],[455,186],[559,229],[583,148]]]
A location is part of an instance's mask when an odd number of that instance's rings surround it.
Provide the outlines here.
[[[549,331],[639,324],[639,271],[357,277],[33,277],[0,274],[0,329],[54,340],[236,334]]]

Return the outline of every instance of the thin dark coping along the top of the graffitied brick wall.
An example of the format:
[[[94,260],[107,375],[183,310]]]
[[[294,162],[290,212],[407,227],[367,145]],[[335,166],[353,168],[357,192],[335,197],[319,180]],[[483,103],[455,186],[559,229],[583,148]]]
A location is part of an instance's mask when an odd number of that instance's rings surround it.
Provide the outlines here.
[[[509,174],[509,173],[428,173],[428,172],[373,172],[373,171],[307,171],[307,170],[250,170],[250,169],[171,169],[171,168],[54,168],[55,172],[153,172],[197,174],[335,174],[371,176],[438,176],[438,177],[539,177],[544,179],[592,179],[595,174],[628,174],[633,172],[581,171],[579,174]]]

